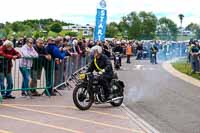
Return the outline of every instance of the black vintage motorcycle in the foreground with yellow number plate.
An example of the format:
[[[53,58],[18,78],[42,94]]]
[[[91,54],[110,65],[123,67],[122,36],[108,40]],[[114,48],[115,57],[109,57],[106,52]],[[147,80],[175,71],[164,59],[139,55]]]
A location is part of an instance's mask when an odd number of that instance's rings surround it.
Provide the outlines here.
[[[80,110],[88,110],[95,104],[110,103],[117,107],[123,103],[124,99],[124,83],[116,77],[110,83],[112,99],[105,96],[103,86],[99,83],[100,73],[81,73],[79,74],[79,81],[73,91],[73,101]]]

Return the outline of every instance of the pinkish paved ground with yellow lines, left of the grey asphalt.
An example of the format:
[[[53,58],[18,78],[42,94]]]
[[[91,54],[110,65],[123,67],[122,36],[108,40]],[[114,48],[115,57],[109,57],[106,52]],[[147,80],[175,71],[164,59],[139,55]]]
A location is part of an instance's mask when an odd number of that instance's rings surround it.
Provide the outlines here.
[[[72,91],[60,91],[63,96],[51,98],[4,100],[0,104],[0,133],[146,133],[122,107],[104,104],[78,110]]]

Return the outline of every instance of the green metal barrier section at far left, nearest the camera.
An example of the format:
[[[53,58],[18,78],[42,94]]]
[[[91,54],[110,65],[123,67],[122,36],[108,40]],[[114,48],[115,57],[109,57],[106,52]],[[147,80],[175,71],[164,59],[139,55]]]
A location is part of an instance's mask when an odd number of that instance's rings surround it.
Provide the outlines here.
[[[10,91],[29,91],[44,89],[50,96],[49,88],[53,81],[53,60],[44,58],[20,58],[9,60],[0,57],[1,96],[10,95]]]

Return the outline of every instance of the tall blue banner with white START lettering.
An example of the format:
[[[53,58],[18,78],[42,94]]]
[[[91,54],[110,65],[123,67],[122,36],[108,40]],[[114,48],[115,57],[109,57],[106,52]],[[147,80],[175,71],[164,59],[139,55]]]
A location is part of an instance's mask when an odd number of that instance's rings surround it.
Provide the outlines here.
[[[107,10],[105,0],[101,0],[97,7],[94,41],[104,41],[106,33]]]

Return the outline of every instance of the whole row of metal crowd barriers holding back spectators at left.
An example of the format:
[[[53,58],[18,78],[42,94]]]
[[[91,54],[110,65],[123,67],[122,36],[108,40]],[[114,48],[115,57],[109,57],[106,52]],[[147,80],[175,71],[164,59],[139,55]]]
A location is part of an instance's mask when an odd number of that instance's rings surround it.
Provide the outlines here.
[[[72,74],[89,62],[89,56],[80,55],[51,61],[39,57],[21,58],[10,62],[10,60],[0,57],[0,101],[2,96],[9,91],[32,92],[43,89],[46,95],[50,96],[49,89],[58,89],[69,85],[68,81]],[[9,63],[12,63],[11,69],[9,69],[11,67]]]

